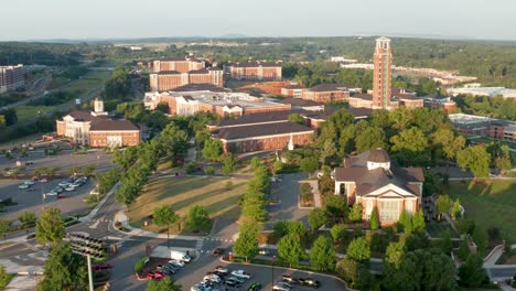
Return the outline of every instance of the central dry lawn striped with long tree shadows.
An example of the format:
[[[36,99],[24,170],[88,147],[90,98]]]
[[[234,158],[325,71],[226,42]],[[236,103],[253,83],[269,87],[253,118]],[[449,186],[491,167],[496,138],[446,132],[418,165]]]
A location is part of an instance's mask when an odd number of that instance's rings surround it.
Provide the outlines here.
[[[226,182],[233,185],[226,188]],[[246,192],[247,181],[221,177],[160,177],[151,179],[143,193],[129,207],[129,219],[132,226],[153,231],[166,230],[155,225],[143,226],[148,216],[160,205],[172,205],[174,212],[182,218],[191,206],[198,204],[206,207],[211,218],[224,216],[237,219],[239,216],[238,200]],[[171,233],[178,233],[178,226],[171,227]]]

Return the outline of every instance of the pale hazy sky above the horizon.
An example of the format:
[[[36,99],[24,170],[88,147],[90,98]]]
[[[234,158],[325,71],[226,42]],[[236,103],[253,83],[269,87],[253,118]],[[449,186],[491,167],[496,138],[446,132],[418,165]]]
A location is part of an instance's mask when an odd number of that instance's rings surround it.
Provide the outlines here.
[[[0,41],[228,34],[516,41],[515,0],[0,0]]]

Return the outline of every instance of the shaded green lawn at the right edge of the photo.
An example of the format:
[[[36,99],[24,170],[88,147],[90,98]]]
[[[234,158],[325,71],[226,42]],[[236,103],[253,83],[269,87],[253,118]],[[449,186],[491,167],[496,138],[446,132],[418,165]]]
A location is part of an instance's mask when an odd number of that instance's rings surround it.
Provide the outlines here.
[[[516,241],[516,180],[493,180],[475,185],[451,182],[448,194],[460,200],[465,218],[484,229],[498,227],[505,237]]]

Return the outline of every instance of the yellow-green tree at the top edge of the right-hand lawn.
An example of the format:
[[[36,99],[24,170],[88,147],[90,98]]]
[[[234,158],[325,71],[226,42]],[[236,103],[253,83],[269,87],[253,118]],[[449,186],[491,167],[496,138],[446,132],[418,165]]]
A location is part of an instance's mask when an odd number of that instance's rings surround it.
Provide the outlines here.
[[[491,155],[482,144],[469,147],[456,154],[456,164],[463,170],[470,170],[475,177],[490,175]]]

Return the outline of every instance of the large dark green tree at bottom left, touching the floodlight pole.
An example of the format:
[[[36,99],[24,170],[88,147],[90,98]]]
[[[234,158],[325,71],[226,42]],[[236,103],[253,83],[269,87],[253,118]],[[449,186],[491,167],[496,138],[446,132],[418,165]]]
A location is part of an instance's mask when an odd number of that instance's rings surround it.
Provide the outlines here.
[[[40,291],[88,289],[86,259],[73,254],[67,242],[52,248],[43,270],[45,278],[37,285]]]

